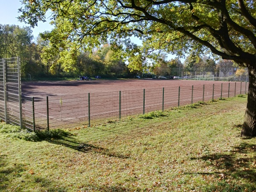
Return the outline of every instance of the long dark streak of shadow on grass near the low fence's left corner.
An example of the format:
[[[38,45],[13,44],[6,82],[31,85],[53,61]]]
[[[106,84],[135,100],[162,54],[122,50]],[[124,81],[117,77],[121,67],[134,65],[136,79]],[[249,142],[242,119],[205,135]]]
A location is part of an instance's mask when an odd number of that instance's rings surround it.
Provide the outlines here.
[[[76,140],[73,137],[63,137],[61,140],[48,140],[49,143],[54,143],[57,145],[62,145],[68,148],[72,148],[76,151],[81,151],[83,153],[92,152],[92,153],[99,153],[103,155],[107,155],[109,157],[117,157],[121,159],[130,158],[126,154],[119,154],[114,151],[110,151],[107,148],[97,147],[94,145],[90,145],[88,143],[83,143]]]

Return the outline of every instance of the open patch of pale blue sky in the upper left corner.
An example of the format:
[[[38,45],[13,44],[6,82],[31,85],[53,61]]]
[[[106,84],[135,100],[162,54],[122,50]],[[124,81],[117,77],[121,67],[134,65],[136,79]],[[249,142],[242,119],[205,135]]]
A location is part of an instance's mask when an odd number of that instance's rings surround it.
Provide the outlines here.
[[[22,6],[20,0],[0,0],[1,9],[0,9],[0,24],[15,24],[18,26],[29,26],[26,23],[21,23],[18,21],[17,17],[20,15],[18,9]],[[38,26],[34,29],[32,28],[34,38],[36,38],[40,32],[51,30],[52,26],[49,22],[39,22]]]

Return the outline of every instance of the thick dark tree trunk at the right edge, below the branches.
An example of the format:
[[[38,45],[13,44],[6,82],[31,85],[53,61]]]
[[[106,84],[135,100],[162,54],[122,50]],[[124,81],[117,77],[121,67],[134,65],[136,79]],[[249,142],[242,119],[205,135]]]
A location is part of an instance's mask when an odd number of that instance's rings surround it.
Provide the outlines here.
[[[256,69],[248,68],[249,87],[242,137],[256,137]]]

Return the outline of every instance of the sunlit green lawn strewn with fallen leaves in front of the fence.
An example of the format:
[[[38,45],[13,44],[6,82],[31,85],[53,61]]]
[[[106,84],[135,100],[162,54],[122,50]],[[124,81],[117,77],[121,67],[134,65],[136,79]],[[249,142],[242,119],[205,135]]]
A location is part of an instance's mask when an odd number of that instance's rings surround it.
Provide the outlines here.
[[[246,101],[36,132],[37,142],[0,124],[0,191],[256,191],[256,138],[239,137]]]

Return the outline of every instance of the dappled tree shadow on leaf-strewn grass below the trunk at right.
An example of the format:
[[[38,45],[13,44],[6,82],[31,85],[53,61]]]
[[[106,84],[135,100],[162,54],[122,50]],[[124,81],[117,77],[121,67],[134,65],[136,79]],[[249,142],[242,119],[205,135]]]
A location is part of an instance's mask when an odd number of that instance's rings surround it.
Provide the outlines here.
[[[253,168],[255,157],[247,157],[247,153],[256,152],[256,144],[240,143],[240,145],[233,147],[230,154],[218,153],[209,154],[202,157],[191,158],[191,160],[204,160],[209,167],[217,169],[215,172],[196,172],[200,175],[215,175],[219,180],[224,181],[227,188],[232,187],[227,180],[232,178],[241,178],[246,181],[245,186],[236,186],[239,188],[250,187],[256,190],[256,169]],[[195,173],[189,173],[195,174]],[[250,190],[249,190],[250,191]]]

